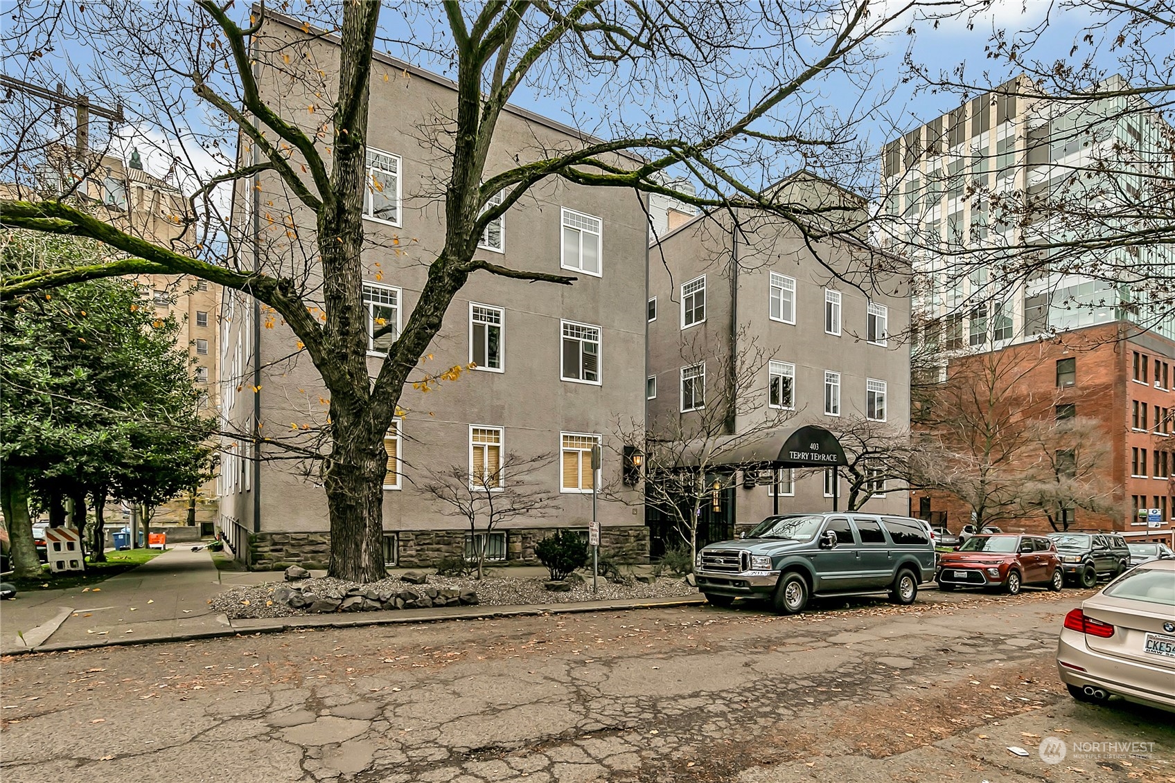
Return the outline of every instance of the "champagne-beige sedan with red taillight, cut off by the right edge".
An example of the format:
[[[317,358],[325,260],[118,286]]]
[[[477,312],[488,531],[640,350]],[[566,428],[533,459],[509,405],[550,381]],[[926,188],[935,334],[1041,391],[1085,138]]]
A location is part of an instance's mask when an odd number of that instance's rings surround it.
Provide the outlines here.
[[[1079,701],[1175,711],[1175,560],[1144,562],[1069,612],[1056,670]]]

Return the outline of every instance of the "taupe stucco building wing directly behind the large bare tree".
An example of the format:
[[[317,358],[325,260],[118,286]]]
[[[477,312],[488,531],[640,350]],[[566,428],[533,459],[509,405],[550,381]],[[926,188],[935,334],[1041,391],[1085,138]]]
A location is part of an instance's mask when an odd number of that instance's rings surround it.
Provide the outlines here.
[[[266,35],[301,36],[296,27],[270,21]],[[264,41],[258,46],[267,46]],[[337,73],[337,47],[329,38],[300,41],[291,50],[324,73]],[[260,81],[271,104],[295,115],[302,89],[295,80],[275,81],[258,60]],[[307,88],[309,90],[309,88]],[[314,100],[307,94],[308,100]],[[371,74],[368,166],[372,182],[364,220],[363,293],[372,325],[404,323],[424,285],[428,264],[444,242],[444,204],[437,195],[448,157],[422,143],[438,114],[452,112],[454,85],[383,55]],[[571,128],[521,109],[498,122],[486,176],[543,155],[543,150],[582,144]],[[630,161],[631,163],[631,161]],[[284,187],[271,173],[247,183],[239,196],[257,194],[262,207],[249,212],[239,197],[241,221],[258,263],[303,272],[310,289],[321,275],[267,238],[268,204],[288,204]],[[289,212],[284,212],[288,215]],[[309,215],[295,212],[296,230],[311,230]],[[283,220],[283,218],[280,218]],[[251,234],[250,234],[251,231]],[[531,479],[558,494],[558,508],[543,519],[517,520],[490,536],[491,559],[533,562],[533,545],[552,528],[584,529],[591,519],[591,470],[584,470],[591,444],[603,439],[602,484],[617,484],[611,421],[644,411],[645,210],[631,191],[586,188],[551,178],[535,187],[497,225],[486,231],[478,254],[508,266],[571,274],[570,286],[528,284],[476,274],[458,293],[441,333],[421,365],[438,372],[476,363],[456,380],[423,393],[407,386],[404,416],[389,432],[389,472],[383,521],[389,565],[428,565],[461,556],[470,547],[464,518],[416,490],[428,470],[494,464],[506,454],[551,454]],[[243,257],[250,257],[246,251]],[[315,443],[327,412],[327,392],[317,371],[300,352],[293,332],[250,299],[230,293],[222,309],[222,411],[226,428],[242,434],[224,443],[220,528],[254,567],[274,562],[325,562],[329,556],[327,499],[317,466],[290,459],[276,443]],[[268,328],[267,328],[268,326]],[[388,338],[371,343],[369,372],[381,366]],[[385,342],[385,339],[388,342]],[[275,445],[255,452],[248,434],[271,433]],[[261,458],[261,459],[257,459]],[[284,458],[284,459],[283,459]],[[510,481],[511,477],[504,477]],[[647,556],[640,498],[599,501],[602,548],[616,556]]]

